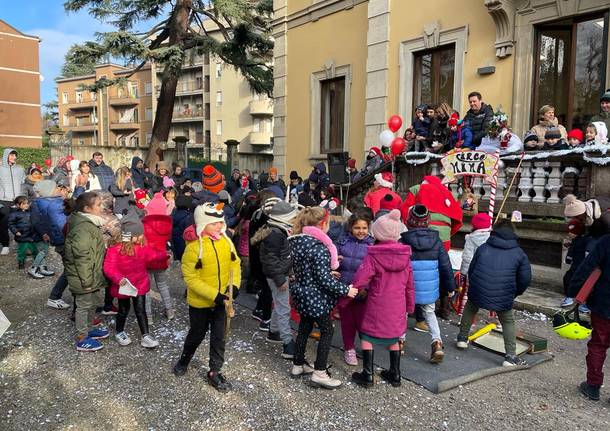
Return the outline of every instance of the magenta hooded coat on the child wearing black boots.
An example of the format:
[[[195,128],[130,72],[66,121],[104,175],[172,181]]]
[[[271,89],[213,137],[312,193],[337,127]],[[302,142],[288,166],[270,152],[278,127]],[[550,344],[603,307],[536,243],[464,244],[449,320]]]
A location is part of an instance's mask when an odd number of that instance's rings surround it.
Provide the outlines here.
[[[354,287],[366,288],[360,331],[376,338],[402,336],[407,329],[406,313],[415,311],[411,248],[395,241],[368,248],[354,277]]]

